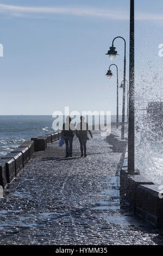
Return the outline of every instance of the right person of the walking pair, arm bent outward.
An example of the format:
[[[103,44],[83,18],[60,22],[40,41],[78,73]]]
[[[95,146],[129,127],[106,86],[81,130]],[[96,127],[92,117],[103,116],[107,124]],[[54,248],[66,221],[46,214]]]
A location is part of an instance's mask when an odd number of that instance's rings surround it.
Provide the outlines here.
[[[80,123],[77,124],[76,129],[76,135],[79,139],[80,143],[80,151],[81,151],[81,157],[86,157],[86,142],[87,142],[87,132],[90,133],[91,138],[93,138],[92,133],[90,130],[88,130],[88,124],[84,121],[84,117],[80,117]],[[84,155],[83,155],[83,149],[84,149]]]

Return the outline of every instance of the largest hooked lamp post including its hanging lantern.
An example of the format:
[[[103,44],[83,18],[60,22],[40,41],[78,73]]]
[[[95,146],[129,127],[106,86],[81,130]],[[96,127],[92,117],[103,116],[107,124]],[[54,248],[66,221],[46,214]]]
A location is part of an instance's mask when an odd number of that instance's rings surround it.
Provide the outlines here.
[[[121,138],[124,139],[124,119],[125,119],[125,90],[126,90],[126,40],[122,36],[116,36],[112,40],[112,46],[106,55],[109,55],[110,60],[114,60],[117,54],[116,47],[114,47],[114,41],[117,38],[121,38],[124,41],[124,72],[123,72],[123,105],[122,105],[122,129]]]

